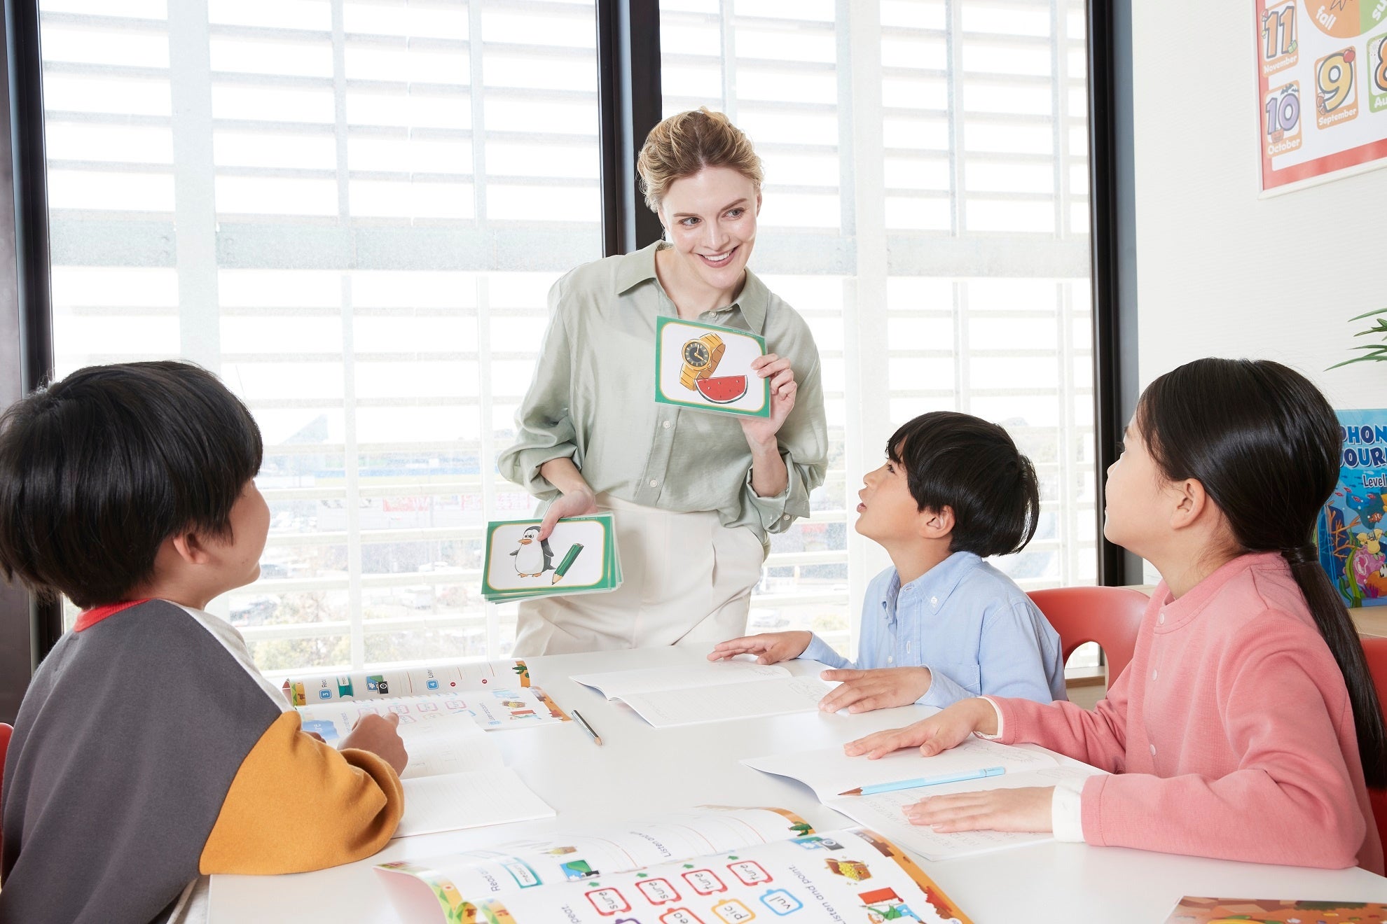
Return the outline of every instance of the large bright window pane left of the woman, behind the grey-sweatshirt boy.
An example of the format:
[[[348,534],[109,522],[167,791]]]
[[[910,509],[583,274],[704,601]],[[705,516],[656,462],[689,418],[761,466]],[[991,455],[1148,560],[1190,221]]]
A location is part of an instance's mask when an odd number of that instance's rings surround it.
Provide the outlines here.
[[[602,255],[594,3],[40,11],[57,374],[190,359],[265,436],[261,579],[211,608],[269,672],[508,651],[480,536]]]

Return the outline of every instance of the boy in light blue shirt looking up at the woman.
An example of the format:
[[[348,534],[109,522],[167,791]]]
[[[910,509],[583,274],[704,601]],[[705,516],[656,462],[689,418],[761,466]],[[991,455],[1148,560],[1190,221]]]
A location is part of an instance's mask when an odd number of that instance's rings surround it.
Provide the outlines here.
[[[971,414],[921,414],[863,482],[856,529],[893,567],[867,587],[857,664],[810,632],[732,639],[709,659],[821,661],[834,668],[824,679],[842,682],[820,702],[828,712],[943,708],[985,694],[1065,700],[1058,633],[983,561],[1025,549],[1040,513],[1035,468],[1007,431]]]

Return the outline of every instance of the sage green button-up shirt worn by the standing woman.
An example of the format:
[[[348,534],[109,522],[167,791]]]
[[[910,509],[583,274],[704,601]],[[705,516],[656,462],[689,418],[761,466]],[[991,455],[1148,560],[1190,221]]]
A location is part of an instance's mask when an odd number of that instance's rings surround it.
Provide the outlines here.
[[[723,525],[750,526],[768,547],[767,533],[809,515],[809,492],[828,465],[814,338],[750,270],[736,301],[698,317],[760,334],[768,352],[791,360],[799,382],[777,435],[789,483],[775,497],[757,497],[735,416],[655,403],[655,319],[678,316],[655,276],[659,247],[585,263],[549,290],[549,328],[516,411],[516,442],[497,465],[552,501],[559,492],[540,467],[569,457],[598,493],[680,513],[716,510]]]

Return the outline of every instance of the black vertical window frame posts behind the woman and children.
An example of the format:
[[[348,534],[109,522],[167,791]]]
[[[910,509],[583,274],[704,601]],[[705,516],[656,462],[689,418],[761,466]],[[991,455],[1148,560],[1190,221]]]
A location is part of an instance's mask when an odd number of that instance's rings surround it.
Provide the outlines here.
[[[660,236],[634,169],[639,140],[660,118],[659,1],[596,0],[596,22],[602,241],[616,255]],[[0,183],[0,406],[8,406],[54,368],[39,0],[4,0],[0,29],[10,116],[0,155],[11,165],[11,183]],[[1101,537],[1103,472],[1136,400],[1130,0],[1090,0],[1087,39],[1099,582],[1114,585],[1140,575]],[[60,604],[0,583],[0,720],[14,720],[61,632]]]

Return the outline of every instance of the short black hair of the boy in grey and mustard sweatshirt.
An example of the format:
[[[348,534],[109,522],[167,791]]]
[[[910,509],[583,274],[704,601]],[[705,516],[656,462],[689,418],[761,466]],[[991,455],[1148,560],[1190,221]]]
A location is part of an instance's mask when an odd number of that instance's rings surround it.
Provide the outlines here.
[[[204,368],[79,368],[0,416],[0,574],[85,610],[121,603],[169,536],[227,536],[262,452]]]

